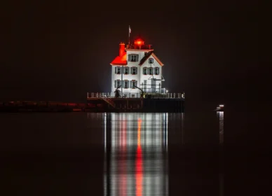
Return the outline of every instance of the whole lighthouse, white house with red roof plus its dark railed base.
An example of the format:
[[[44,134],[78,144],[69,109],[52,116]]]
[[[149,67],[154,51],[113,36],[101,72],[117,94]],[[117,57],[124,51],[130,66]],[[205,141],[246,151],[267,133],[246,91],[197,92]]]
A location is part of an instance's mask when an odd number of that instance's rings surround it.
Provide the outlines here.
[[[184,112],[184,93],[165,90],[164,65],[142,38],[119,43],[118,56],[110,64],[111,92],[87,92],[93,110]]]

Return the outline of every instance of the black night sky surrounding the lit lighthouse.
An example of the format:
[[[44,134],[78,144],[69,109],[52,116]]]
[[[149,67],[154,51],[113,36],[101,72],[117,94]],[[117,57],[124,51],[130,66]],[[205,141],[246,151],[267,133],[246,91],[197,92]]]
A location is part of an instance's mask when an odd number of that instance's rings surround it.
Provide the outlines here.
[[[86,92],[110,92],[109,63],[130,25],[165,64],[164,87],[184,90],[189,109],[245,102],[257,86],[256,13],[250,1],[6,3],[0,100],[86,102]]]

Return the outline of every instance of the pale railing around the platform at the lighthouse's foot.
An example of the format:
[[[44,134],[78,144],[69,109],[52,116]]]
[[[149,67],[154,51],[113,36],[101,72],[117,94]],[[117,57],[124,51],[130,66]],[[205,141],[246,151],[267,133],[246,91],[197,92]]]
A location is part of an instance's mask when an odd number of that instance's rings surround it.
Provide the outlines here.
[[[140,98],[140,93],[123,92],[118,98]],[[184,93],[157,93],[157,92],[145,92],[144,98],[161,98],[161,99],[185,99]],[[87,92],[88,99],[106,99],[115,98],[114,92]]]

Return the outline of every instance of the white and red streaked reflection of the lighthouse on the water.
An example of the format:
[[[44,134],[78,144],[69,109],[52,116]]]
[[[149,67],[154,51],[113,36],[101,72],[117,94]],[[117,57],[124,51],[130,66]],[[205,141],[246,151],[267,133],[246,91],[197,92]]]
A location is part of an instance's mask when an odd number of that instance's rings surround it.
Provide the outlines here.
[[[168,113],[105,113],[104,145],[104,195],[168,195]]]

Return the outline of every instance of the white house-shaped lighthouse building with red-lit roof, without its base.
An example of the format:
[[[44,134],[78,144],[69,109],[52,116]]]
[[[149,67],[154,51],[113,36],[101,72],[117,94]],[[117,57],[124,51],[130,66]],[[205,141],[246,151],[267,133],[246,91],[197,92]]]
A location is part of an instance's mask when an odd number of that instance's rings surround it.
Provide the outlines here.
[[[163,63],[154,54],[151,45],[144,45],[141,38],[133,44],[119,44],[119,55],[111,62],[111,92],[139,94],[141,91],[165,93],[162,88]]]

